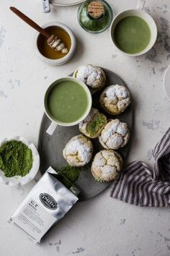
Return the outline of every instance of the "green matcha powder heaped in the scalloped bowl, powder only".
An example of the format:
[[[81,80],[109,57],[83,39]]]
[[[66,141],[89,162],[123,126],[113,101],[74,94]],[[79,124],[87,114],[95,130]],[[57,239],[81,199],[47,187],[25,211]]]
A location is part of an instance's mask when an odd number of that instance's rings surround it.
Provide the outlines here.
[[[32,162],[32,150],[21,141],[9,140],[0,147],[0,169],[6,177],[25,176]]]

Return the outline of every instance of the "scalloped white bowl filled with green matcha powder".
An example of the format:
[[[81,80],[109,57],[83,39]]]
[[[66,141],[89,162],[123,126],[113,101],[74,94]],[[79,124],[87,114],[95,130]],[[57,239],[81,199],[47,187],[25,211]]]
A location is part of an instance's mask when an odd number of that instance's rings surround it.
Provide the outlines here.
[[[35,145],[23,137],[0,141],[0,182],[24,185],[35,178],[40,167],[40,155]]]

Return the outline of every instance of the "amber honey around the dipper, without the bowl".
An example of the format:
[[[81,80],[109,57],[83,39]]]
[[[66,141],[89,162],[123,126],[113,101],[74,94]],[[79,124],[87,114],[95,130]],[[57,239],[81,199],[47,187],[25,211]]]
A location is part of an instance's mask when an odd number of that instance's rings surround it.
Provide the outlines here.
[[[71,48],[71,38],[70,35],[66,32],[66,30],[63,30],[61,27],[47,27],[45,30],[50,35],[57,35],[58,39],[61,39],[61,41],[65,44],[66,48],[68,48],[68,52]],[[53,48],[48,46],[47,38],[45,38],[43,35],[39,35],[37,38],[37,47],[40,51],[40,53],[45,56],[48,59],[61,59],[66,54],[62,54],[61,51],[55,51]]]

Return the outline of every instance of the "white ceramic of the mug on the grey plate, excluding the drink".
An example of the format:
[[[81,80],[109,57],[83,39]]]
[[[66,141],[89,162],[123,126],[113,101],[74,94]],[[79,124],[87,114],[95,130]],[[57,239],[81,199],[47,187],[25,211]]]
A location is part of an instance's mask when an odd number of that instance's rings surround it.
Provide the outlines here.
[[[53,118],[53,116],[50,115],[50,112],[48,111],[48,94],[50,93],[50,91],[52,90],[52,88],[54,86],[58,85],[58,83],[62,82],[62,81],[76,82],[78,85],[80,85],[82,88],[84,88],[84,90],[86,92],[86,95],[87,95],[87,98],[88,98],[88,105],[86,107],[86,112],[84,113],[84,115],[81,116],[78,120],[73,121],[71,123],[63,123],[61,121],[57,121],[56,119]],[[55,129],[58,125],[61,125],[63,127],[71,127],[73,125],[79,124],[81,121],[83,121],[86,118],[86,116],[88,116],[88,114],[91,110],[91,105],[92,105],[91,93],[89,91],[89,88],[84,84],[84,82],[81,82],[81,81],[77,80],[74,77],[63,77],[61,79],[56,80],[55,82],[53,82],[53,84],[51,84],[49,86],[48,90],[45,93],[45,98],[44,98],[45,114],[51,120],[50,127],[48,127],[46,132],[48,133],[48,135],[53,135],[53,132],[55,131]]]

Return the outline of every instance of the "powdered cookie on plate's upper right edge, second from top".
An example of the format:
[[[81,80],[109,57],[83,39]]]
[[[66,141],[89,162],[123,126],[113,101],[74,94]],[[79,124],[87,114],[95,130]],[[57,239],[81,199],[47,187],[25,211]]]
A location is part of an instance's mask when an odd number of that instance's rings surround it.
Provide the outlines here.
[[[123,85],[110,85],[104,89],[99,101],[107,113],[118,115],[130,105],[130,93]]]

